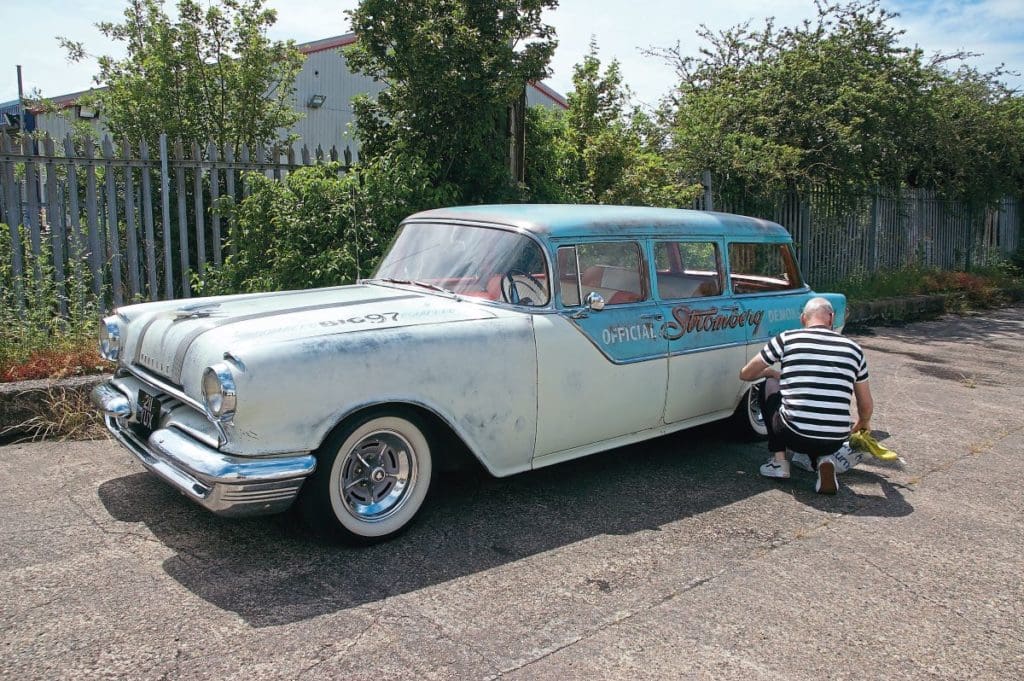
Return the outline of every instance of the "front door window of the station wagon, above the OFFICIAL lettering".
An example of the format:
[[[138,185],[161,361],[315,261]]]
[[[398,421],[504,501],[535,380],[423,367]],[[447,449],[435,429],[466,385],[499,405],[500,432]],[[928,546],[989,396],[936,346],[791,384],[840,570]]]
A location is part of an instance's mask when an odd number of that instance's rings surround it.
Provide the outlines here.
[[[572,250],[577,256],[574,263],[570,263]],[[579,305],[592,292],[600,294],[608,305],[634,303],[647,297],[643,259],[636,242],[579,244],[574,249],[558,251],[558,273],[565,305]],[[577,271],[579,279],[574,276]]]

